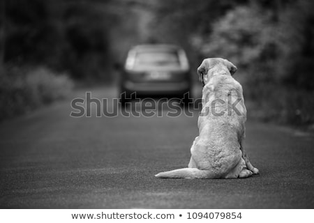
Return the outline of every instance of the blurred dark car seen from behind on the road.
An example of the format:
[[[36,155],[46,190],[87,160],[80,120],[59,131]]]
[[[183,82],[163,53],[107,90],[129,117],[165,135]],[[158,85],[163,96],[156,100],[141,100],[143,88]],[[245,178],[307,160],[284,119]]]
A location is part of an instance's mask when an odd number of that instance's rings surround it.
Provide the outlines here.
[[[127,55],[120,79],[120,102],[136,97],[186,98],[192,80],[186,52],[176,45],[137,45]],[[186,102],[182,100],[182,102]]]

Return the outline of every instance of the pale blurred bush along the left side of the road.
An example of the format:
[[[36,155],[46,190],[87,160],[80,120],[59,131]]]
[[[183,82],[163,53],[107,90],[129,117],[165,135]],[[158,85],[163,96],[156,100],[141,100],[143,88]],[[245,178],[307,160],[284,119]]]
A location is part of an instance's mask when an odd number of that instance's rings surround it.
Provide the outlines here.
[[[0,76],[0,120],[66,98],[73,82],[47,68],[8,68]]]

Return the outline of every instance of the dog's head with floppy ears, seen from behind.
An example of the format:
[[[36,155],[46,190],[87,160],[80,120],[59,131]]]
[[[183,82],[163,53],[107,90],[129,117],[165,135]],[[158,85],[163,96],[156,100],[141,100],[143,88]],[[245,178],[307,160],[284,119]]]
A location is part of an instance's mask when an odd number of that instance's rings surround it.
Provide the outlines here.
[[[203,86],[209,82],[211,76],[213,75],[211,70],[213,68],[218,68],[220,70],[227,70],[230,75],[234,75],[237,71],[237,67],[233,63],[222,58],[207,58],[202,61],[201,65],[197,68],[197,74],[200,77],[200,82]]]

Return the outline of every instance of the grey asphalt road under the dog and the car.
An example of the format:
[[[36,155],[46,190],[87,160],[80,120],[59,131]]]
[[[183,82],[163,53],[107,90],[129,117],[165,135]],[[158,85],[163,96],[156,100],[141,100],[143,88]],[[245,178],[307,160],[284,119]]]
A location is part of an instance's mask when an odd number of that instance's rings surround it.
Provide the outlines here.
[[[246,147],[259,176],[160,179],[154,174],[187,166],[197,111],[177,118],[71,111],[69,101],[56,102],[0,123],[1,208],[314,208],[311,134],[248,120]]]

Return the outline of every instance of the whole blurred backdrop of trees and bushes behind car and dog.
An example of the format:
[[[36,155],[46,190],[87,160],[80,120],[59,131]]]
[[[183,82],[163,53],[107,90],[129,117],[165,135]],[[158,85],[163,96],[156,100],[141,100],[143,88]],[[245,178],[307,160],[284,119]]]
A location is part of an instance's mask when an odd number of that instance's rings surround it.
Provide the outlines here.
[[[130,47],[234,63],[248,116],[313,127],[314,3],[283,0],[0,0],[0,120],[114,86]]]

